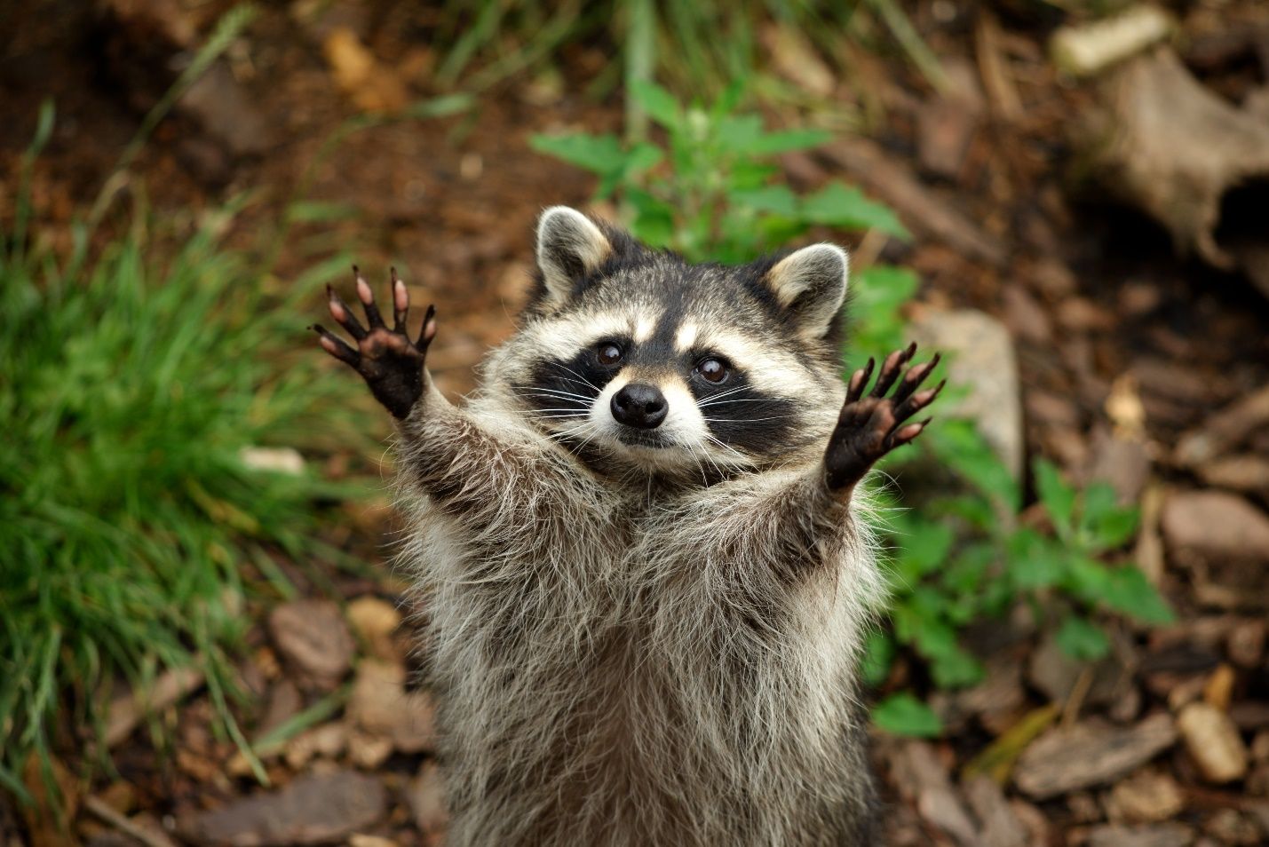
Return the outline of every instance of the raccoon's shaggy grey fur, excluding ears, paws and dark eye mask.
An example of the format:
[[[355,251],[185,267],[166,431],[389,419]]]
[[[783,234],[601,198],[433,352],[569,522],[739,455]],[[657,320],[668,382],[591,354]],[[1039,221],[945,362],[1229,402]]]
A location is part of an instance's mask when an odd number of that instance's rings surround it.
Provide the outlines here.
[[[530,307],[464,407],[426,378],[400,425],[449,843],[873,843],[854,676],[882,587],[865,505],[824,482],[838,355],[728,269],[641,252],[605,273]],[[596,431],[579,451],[515,388],[544,346],[595,341],[588,321],[666,312],[778,351],[797,437],[654,460]]]

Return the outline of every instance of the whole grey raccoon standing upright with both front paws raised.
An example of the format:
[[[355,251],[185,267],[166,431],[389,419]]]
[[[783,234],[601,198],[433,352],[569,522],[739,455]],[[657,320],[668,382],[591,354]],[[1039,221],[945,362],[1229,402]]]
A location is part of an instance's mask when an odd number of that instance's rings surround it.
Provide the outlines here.
[[[547,209],[463,407],[424,368],[435,311],[412,340],[396,273],[392,328],[354,276],[355,347],[313,328],[397,418],[448,843],[874,843],[858,483],[942,383],[915,345],[843,382],[846,254],[692,265]]]

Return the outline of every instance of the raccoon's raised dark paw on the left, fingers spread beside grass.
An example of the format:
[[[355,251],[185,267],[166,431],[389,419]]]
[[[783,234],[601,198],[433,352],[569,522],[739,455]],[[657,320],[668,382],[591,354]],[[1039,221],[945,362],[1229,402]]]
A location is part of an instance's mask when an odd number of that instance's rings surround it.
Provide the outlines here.
[[[428,358],[428,345],[437,335],[437,309],[428,307],[423,318],[423,331],[418,341],[411,341],[406,333],[406,318],[410,313],[410,293],[405,283],[397,279],[392,269],[392,316],[393,326],[387,328],[379,307],[374,304],[374,292],[353,265],[353,279],[357,283],[357,297],[365,309],[369,328],[353,317],[352,309],[340,299],[330,285],[326,287],[327,308],[335,322],[344,327],[357,341],[354,350],[339,336],[327,332],[321,325],[310,328],[321,339],[322,350],[350,365],[362,374],[371,387],[374,398],[383,403],[397,418],[404,418],[414,408],[423,394],[423,366]]]

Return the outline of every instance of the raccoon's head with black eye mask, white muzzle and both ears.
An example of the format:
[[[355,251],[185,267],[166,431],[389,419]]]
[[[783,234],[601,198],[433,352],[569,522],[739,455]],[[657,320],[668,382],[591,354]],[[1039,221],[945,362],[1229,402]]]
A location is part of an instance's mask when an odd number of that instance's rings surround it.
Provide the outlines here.
[[[843,399],[846,254],[688,265],[565,207],[491,378],[602,470],[720,478],[822,445]]]

